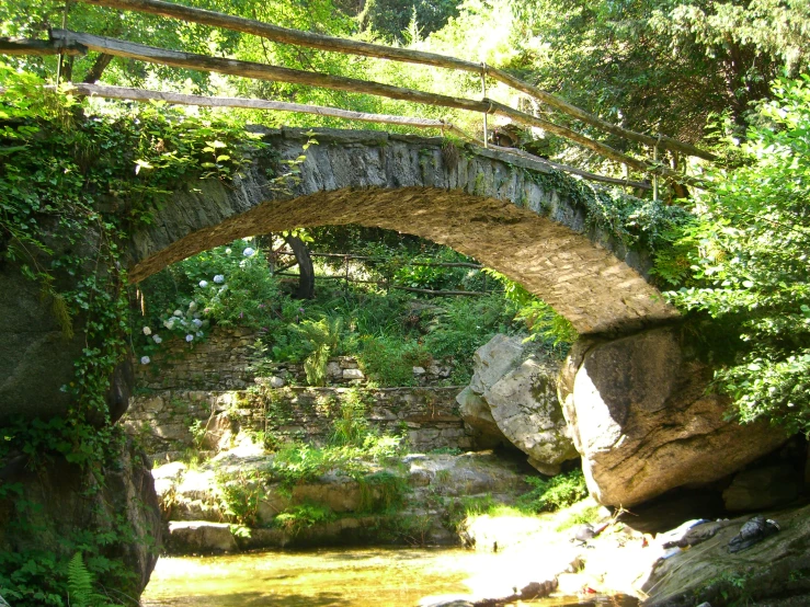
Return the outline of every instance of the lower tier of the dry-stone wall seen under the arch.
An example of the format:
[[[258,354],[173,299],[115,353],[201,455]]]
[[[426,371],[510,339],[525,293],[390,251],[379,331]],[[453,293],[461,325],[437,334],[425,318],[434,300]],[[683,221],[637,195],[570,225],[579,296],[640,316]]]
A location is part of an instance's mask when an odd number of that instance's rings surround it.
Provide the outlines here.
[[[472,447],[471,434],[455,406],[458,388],[358,389],[368,401],[369,423],[393,433],[406,424],[411,450]],[[309,443],[324,444],[346,396],[345,388],[267,387],[262,393],[162,390],[133,398],[123,425],[150,455],[218,451],[259,431],[278,440],[304,434]]]

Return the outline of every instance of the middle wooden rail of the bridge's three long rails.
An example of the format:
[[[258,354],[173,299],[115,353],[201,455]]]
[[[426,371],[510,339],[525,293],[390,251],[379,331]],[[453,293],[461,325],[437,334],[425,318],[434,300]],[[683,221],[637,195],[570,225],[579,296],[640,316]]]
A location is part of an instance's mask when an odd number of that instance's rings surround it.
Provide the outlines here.
[[[254,78],[258,80],[269,80],[275,82],[290,82],[296,84],[305,84],[309,87],[321,87],[340,91],[349,91],[354,93],[367,93],[389,99],[398,99],[412,103],[423,103],[427,105],[437,105],[443,107],[453,107],[457,110],[467,110],[470,112],[479,112],[484,114],[499,114],[506,116],[514,122],[528,126],[537,126],[549,133],[554,133],[561,137],[571,139],[581,146],[591,149],[600,156],[626,164],[637,171],[653,173],[685,183],[683,175],[673,171],[663,164],[649,164],[641,160],[637,160],[627,154],[615,150],[614,148],[590,139],[569,128],[549,123],[536,116],[532,116],[524,112],[513,110],[506,105],[491,100],[474,101],[469,99],[453,98],[436,93],[427,93],[391,84],[383,84],[380,82],[370,82],[358,80],[355,78],[346,78],[343,76],[329,76],[326,73],[309,72],[278,66],[269,66],[252,61],[239,61],[236,59],[226,59],[221,57],[210,57],[207,55],[197,55],[193,53],[184,53],[180,50],[169,50],[142,44],[107,38],[105,36],[96,36],[93,34],[83,34],[70,32],[68,30],[53,30],[52,38],[62,43],[76,43],[87,46],[91,50],[106,53],[115,57],[125,57],[128,59],[137,59],[151,64],[172,66],[178,68],[193,69],[197,71],[212,71],[218,73],[228,73],[243,78]]]

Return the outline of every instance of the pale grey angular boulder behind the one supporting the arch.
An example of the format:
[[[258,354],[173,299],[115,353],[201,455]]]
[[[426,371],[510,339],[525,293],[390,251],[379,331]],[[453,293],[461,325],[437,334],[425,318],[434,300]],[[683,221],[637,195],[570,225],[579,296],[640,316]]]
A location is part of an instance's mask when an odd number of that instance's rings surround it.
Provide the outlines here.
[[[557,400],[558,365],[531,356],[521,337],[495,335],[476,352],[474,369],[456,400],[484,442],[514,445],[544,474],[577,457]]]

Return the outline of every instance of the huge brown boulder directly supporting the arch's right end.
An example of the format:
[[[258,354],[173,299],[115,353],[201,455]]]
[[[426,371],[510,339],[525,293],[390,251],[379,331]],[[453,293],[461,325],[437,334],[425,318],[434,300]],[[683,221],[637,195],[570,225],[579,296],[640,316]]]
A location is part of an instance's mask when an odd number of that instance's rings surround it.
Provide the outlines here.
[[[768,424],[730,421],[728,400],[706,393],[710,380],[677,328],[574,345],[559,399],[598,502],[632,506],[717,481],[787,440]]]

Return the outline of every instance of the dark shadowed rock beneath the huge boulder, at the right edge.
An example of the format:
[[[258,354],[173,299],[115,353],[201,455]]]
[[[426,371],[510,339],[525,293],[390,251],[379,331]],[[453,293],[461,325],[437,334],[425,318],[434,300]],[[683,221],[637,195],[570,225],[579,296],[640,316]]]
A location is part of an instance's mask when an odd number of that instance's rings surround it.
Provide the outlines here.
[[[790,465],[743,470],[722,492],[729,511],[760,511],[789,504],[801,490],[799,473]]]

